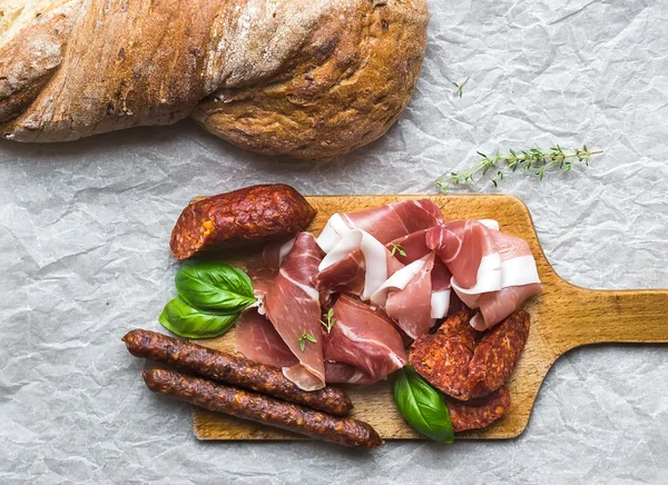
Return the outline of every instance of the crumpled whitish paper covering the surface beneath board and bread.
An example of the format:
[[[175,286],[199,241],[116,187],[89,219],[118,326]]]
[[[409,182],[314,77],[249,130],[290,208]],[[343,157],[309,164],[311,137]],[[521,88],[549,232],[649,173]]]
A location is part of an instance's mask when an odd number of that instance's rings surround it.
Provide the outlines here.
[[[587,169],[515,176],[570,281],[668,287],[668,3],[430,1],[424,71],[387,136],[332,162],[244,152],[186,121],[68,145],[0,143],[0,483],[662,483],[668,346],[561,358],[518,439],[200,443],[119,338],[160,329],[171,226],[195,195],[430,194],[475,150],[603,149]],[[466,77],[463,98],[453,82]],[[472,188],[495,192],[490,184]],[[666,327],[668,321],[659,323]]]

